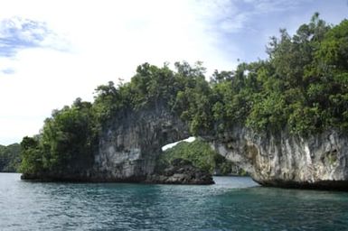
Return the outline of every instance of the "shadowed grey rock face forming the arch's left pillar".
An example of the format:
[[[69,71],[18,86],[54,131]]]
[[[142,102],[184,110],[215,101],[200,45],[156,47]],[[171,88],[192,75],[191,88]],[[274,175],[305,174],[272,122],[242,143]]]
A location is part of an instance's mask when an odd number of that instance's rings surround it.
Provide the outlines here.
[[[161,148],[189,136],[187,125],[165,107],[118,115],[99,138],[92,179],[144,181]]]

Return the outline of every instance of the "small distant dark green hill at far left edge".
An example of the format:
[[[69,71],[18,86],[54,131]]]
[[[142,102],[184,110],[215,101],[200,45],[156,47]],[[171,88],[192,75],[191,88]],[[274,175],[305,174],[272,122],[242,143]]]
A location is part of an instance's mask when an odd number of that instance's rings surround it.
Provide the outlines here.
[[[21,145],[18,143],[0,145],[0,172],[18,171],[21,162],[20,153]]]

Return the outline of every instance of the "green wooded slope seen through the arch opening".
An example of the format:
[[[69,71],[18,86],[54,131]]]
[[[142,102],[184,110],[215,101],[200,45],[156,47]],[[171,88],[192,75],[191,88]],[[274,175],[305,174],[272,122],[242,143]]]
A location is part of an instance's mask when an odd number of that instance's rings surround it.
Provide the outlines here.
[[[232,166],[234,166],[232,162],[213,151],[209,143],[199,139],[193,143],[181,142],[165,150],[160,156],[158,167],[169,166],[177,159],[192,162],[193,166],[212,174],[215,172],[222,175],[236,173],[232,172]]]

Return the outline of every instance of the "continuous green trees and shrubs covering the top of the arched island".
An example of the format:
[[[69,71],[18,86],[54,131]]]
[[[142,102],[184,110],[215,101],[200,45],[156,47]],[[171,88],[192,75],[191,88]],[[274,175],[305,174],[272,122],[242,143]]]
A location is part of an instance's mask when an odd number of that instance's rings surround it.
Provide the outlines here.
[[[145,63],[129,83],[99,86],[94,103],[78,98],[55,110],[41,134],[24,137],[22,171],[83,170],[112,120],[157,107],[180,116],[192,134],[218,138],[237,125],[260,134],[348,129],[348,20],[332,26],[315,14],[293,36],[281,30],[267,51],[267,60],[216,70],[210,82],[200,62],[174,70]]]

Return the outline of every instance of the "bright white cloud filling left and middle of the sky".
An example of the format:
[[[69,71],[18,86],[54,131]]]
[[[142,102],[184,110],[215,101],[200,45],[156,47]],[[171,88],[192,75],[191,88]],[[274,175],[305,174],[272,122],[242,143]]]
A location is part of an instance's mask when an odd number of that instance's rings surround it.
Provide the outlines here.
[[[52,109],[76,97],[92,100],[98,85],[128,80],[146,61],[203,60],[211,70],[233,68],[234,62],[217,50],[219,38],[202,21],[209,10],[194,14],[196,6],[158,0],[6,1],[0,20],[44,22],[50,33],[40,46],[0,57],[0,143],[38,133]],[[29,31],[19,35],[34,39]]]

